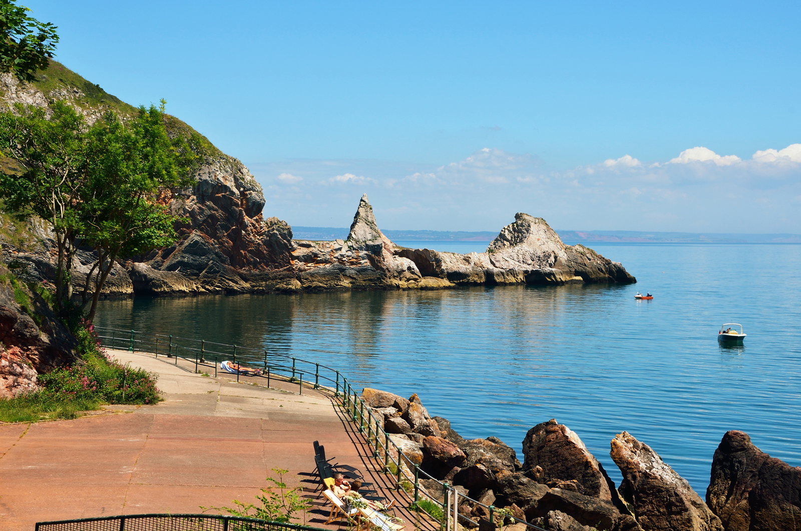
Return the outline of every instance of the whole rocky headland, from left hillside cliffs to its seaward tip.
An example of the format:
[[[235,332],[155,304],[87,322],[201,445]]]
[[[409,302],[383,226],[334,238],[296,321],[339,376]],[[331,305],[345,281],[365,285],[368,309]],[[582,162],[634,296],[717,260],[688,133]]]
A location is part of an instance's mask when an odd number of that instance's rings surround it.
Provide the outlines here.
[[[0,107],[25,103],[49,109],[56,99],[73,105],[89,123],[107,109],[123,118],[135,111],[56,62],[36,82],[0,76]],[[171,135],[193,131],[175,117],[168,119]],[[545,219],[528,214],[517,213],[485,252],[407,249],[380,231],[364,195],[347,239],[305,241],[292,239],[288,223],[264,217],[259,183],[244,164],[211,143],[194,179],[193,186],[163,190],[159,198],[190,220],[176,225],[179,240],[119,260],[104,286],[106,296],[636,282],[622,264],[582,245],[565,245]],[[21,274],[52,279],[54,244],[42,220],[22,223],[0,216],[0,243],[3,258],[18,264]],[[94,262],[90,249],[78,253],[76,286],[83,286]]]

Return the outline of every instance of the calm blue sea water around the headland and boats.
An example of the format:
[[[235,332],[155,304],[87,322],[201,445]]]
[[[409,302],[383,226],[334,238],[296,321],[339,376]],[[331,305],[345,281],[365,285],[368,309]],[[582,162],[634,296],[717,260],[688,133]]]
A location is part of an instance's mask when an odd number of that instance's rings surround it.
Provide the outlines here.
[[[354,387],[417,392],[463,436],[518,453],[556,418],[613,477],[610,439],[626,430],[702,496],[729,429],[801,465],[801,245],[593,247],[638,284],[138,297],[103,301],[98,324],[319,360]],[[718,344],[725,322],[743,324],[743,346]]]

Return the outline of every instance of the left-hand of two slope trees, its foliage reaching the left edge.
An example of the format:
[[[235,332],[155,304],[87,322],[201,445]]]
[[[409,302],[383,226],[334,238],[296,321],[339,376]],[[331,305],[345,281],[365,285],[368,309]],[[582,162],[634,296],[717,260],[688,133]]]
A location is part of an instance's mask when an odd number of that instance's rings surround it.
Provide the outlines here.
[[[75,241],[83,231],[78,191],[87,182],[87,124],[83,115],[63,102],[45,109],[17,104],[0,114],[0,152],[22,171],[0,174],[0,199],[23,217],[38,215],[50,222],[57,247],[55,296],[59,308],[72,296]]]

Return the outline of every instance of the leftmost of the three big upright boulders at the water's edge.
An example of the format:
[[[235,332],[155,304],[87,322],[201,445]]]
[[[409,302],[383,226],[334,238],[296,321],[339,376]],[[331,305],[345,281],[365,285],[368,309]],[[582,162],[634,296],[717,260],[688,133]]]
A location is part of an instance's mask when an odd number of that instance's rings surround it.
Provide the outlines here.
[[[575,432],[555,419],[529,429],[523,439],[523,455],[523,470],[535,481],[549,486],[573,482],[576,492],[624,508],[601,463]]]

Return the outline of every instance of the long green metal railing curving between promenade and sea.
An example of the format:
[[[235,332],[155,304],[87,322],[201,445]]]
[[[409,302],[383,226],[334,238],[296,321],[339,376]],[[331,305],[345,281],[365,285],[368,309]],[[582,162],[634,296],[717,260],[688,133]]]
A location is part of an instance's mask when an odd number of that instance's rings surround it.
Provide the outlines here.
[[[164,334],[147,334],[145,332],[119,328],[95,327],[95,331],[98,332],[99,338],[103,340],[104,346],[127,349],[131,352],[152,352],[155,353],[156,357],[160,354],[162,356],[175,358],[175,364],[177,364],[179,358],[181,358],[194,363],[195,372],[198,372],[200,367],[211,368],[209,362],[213,360],[213,368],[215,370],[215,376],[217,376],[219,363],[224,360],[232,360],[234,363],[248,364],[253,367],[261,368],[262,374],[259,375],[259,377],[268,380],[268,387],[270,386],[271,375],[276,373],[284,374],[285,380],[298,383],[299,394],[303,394],[304,375],[306,375],[306,385],[308,387],[315,389],[324,388],[333,392],[335,398],[340,400],[340,404],[347,414],[348,419],[351,420],[353,424],[356,424],[359,432],[364,436],[364,439],[367,440],[372,458],[384,473],[394,476],[396,486],[405,483],[409,485],[410,488],[414,489],[413,504],[418,510],[425,511],[425,509],[418,505],[422,496],[442,507],[443,514],[445,515],[445,521],[443,521],[442,524],[446,531],[450,529],[457,531],[457,522],[459,521],[478,525],[477,522],[471,520],[468,515],[458,513],[460,499],[462,499],[469,501],[473,504],[473,507],[481,505],[481,507],[487,509],[489,521],[495,523],[496,507],[493,505],[484,505],[477,500],[473,500],[473,498],[459,493],[453,485],[437,480],[436,477],[426,473],[419,465],[409,459],[398,445],[396,445],[395,441],[392,440],[390,434],[385,432],[383,428],[380,428],[379,421],[376,420],[376,417],[372,414],[372,408],[370,408],[358,395],[356,390],[352,388],[348,379],[334,368],[314,361],[302,360],[295,356],[276,354],[268,352],[267,350],[246,348],[240,345],[213,343],[206,340],[187,339]],[[232,373],[227,374],[233,376]],[[314,380],[314,384],[311,383],[312,379]],[[236,375],[236,380],[239,381],[239,373]],[[328,382],[330,385],[320,384],[320,381],[324,383]],[[394,450],[394,452],[392,450]],[[427,489],[421,488],[421,478],[436,481],[439,485],[438,488],[441,488],[442,501],[439,501],[438,497],[430,494]],[[403,485],[400,486],[402,487]],[[429,516],[433,517],[430,513]],[[537,527],[537,525],[529,524],[529,522],[525,520],[509,515],[503,515],[501,518],[501,525],[499,526],[502,526],[502,521],[504,519],[525,524],[532,529],[545,531],[545,529]]]

